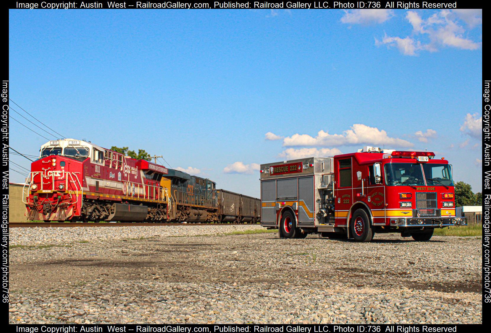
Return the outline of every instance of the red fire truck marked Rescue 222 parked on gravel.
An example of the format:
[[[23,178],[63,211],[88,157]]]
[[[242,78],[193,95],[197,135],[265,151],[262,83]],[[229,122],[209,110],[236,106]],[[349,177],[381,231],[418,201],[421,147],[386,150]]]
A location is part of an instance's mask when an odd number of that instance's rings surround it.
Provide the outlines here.
[[[400,232],[427,241],[455,215],[451,165],[431,152],[364,147],[334,157],[261,164],[261,225],[284,238],[308,233],[369,242]]]

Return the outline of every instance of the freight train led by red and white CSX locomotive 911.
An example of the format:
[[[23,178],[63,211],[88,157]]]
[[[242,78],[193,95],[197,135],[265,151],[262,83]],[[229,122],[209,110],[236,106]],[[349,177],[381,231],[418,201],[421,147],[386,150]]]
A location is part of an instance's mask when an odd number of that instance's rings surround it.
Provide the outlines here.
[[[259,222],[260,200],[216,189],[210,179],[90,142],[41,146],[24,186],[28,220]]]

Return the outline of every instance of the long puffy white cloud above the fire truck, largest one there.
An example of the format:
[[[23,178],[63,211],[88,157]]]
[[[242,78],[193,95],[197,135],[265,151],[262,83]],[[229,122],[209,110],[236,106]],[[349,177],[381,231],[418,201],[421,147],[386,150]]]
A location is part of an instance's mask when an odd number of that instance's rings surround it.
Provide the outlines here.
[[[351,129],[345,130],[342,134],[329,134],[320,130],[314,138],[308,134],[294,134],[283,139],[283,146],[343,146],[371,144],[379,146],[412,147],[409,141],[389,137],[387,132],[375,127],[363,124],[354,124]]]

